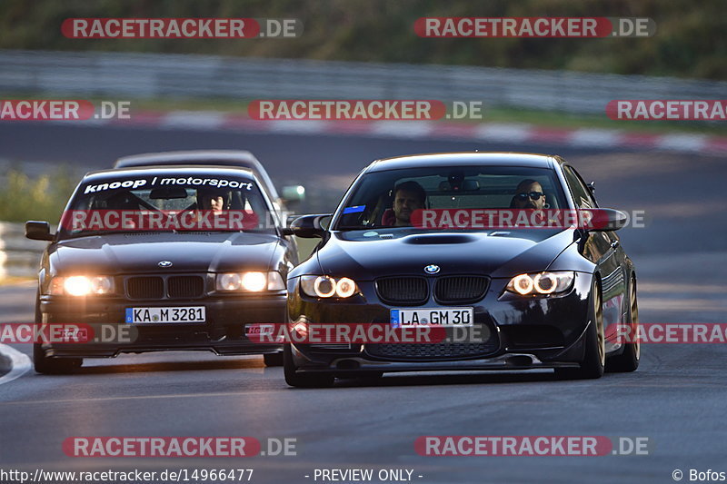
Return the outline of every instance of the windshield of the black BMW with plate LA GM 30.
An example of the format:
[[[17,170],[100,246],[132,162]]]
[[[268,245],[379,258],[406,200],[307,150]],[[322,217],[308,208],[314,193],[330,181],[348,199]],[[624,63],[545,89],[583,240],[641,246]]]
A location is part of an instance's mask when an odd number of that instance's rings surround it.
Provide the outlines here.
[[[567,208],[553,170],[452,165],[388,170],[359,179],[344,199],[334,230],[415,226],[409,217],[416,209],[526,208]]]

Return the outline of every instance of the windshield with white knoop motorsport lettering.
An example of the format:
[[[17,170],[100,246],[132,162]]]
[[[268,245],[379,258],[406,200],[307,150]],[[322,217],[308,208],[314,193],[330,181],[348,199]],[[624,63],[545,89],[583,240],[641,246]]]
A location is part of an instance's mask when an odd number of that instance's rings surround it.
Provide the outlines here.
[[[104,177],[79,185],[62,238],[113,232],[274,232],[253,179],[214,173]]]

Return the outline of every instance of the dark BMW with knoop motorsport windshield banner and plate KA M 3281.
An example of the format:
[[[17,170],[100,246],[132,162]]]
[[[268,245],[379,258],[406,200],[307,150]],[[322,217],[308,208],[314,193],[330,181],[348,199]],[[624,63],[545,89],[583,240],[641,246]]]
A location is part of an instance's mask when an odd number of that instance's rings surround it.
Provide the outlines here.
[[[48,222],[25,225],[28,238],[50,242],[35,322],[85,331],[83,339],[39,338],[35,370],[65,372],[84,358],[163,350],[263,353],[266,364],[282,364],[281,344],[248,336],[261,323],[284,321],[284,281],[298,262],[285,230],[249,169],[87,174],[57,232]]]

